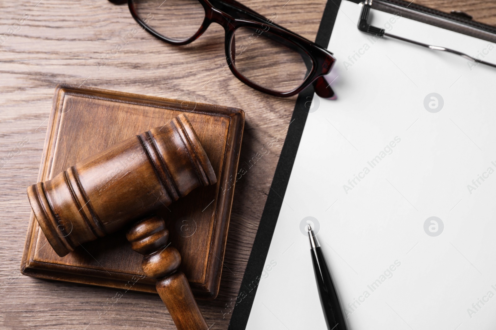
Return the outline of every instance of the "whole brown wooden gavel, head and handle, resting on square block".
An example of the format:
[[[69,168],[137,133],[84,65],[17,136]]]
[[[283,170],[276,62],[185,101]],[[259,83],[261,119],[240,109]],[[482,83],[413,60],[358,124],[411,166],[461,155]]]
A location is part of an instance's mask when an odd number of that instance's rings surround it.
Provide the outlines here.
[[[144,255],[143,272],[157,279],[157,291],[176,327],[207,330],[186,276],[178,271],[181,256],[167,244],[165,222],[152,215],[216,182],[205,150],[181,114],[30,186],[27,193],[41,229],[61,257],[136,222],[126,238]]]

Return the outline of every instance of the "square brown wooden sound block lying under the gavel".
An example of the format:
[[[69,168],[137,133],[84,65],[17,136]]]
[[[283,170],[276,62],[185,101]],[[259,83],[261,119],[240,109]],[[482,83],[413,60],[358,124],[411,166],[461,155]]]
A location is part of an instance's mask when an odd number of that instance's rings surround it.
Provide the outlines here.
[[[181,254],[180,270],[193,294],[213,299],[224,260],[245,123],[243,110],[59,85],[38,182],[52,179],[68,166],[119,141],[160,127],[181,113],[187,114],[218,180],[215,185],[193,190],[157,214],[165,220],[169,240]],[[155,280],[143,275],[142,259],[131,249],[125,229],[84,243],[61,258],[31,213],[21,272],[43,279],[157,292]]]

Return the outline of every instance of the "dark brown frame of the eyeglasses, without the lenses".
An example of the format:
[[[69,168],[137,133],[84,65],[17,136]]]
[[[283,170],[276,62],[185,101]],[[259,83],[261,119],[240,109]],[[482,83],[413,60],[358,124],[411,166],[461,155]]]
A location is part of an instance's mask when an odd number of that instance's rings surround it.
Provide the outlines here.
[[[203,20],[203,23],[192,37],[181,41],[169,39],[155,31],[153,28],[149,27],[147,23],[145,23],[137,14],[136,9],[134,8],[133,1],[127,0],[127,4],[129,6],[129,11],[131,12],[132,17],[136,20],[136,22],[138,22],[139,25],[141,25],[146,31],[148,31],[156,38],[172,45],[181,46],[189,44],[196,40],[199,36],[201,36],[211,23],[220,24],[226,31],[226,60],[231,72],[236,76],[236,78],[257,91],[274,96],[293,96],[309,87],[310,84],[313,84],[315,93],[318,96],[324,98],[330,98],[334,96],[334,92],[332,91],[330,84],[327,84],[327,81],[323,77],[330,72],[334,62],[336,61],[331,52],[322,47],[319,47],[317,44],[311,42],[310,40],[294,32],[291,32],[290,30],[280,25],[273,23],[271,20],[260,15],[256,11],[251,10],[250,8],[236,0],[198,1],[203,5],[203,8],[205,9],[205,18]],[[240,27],[248,27],[265,32],[270,30],[270,33],[266,34],[269,36],[270,39],[273,39],[276,42],[283,44],[286,47],[290,47],[300,53],[306,53],[312,61],[312,67],[309,68],[310,63],[306,63],[307,68],[310,69],[310,73],[308,74],[302,85],[300,85],[293,91],[283,93],[263,88],[262,86],[252,83],[245,76],[243,76],[236,69],[236,66],[232,65],[235,62],[235,51],[234,49],[231,49],[231,41],[233,39],[234,31]]]

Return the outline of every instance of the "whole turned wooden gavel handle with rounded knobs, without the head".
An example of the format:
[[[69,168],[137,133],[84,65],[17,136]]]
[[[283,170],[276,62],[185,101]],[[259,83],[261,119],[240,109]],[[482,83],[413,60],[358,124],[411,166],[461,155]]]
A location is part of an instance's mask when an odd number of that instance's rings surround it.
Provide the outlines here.
[[[126,238],[134,251],[144,255],[143,272],[157,279],[157,292],[178,330],[208,330],[186,275],[178,270],[181,255],[167,244],[164,220],[158,216],[143,219],[129,229]]]

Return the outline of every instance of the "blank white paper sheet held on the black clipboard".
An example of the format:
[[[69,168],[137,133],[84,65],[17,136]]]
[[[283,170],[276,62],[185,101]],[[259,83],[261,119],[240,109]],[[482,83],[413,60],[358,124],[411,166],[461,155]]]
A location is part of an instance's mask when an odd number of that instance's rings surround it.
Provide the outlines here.
[[[247,329],[326,329],[308,216],[350,330],[495,329],[496,70],[373,41],[360,10],[341,3],[329,43],[338,98],[314,96]],[[371,13],[392,34],[496,62],[494,44]],[[425,226],[431,217],[443,228]]]

